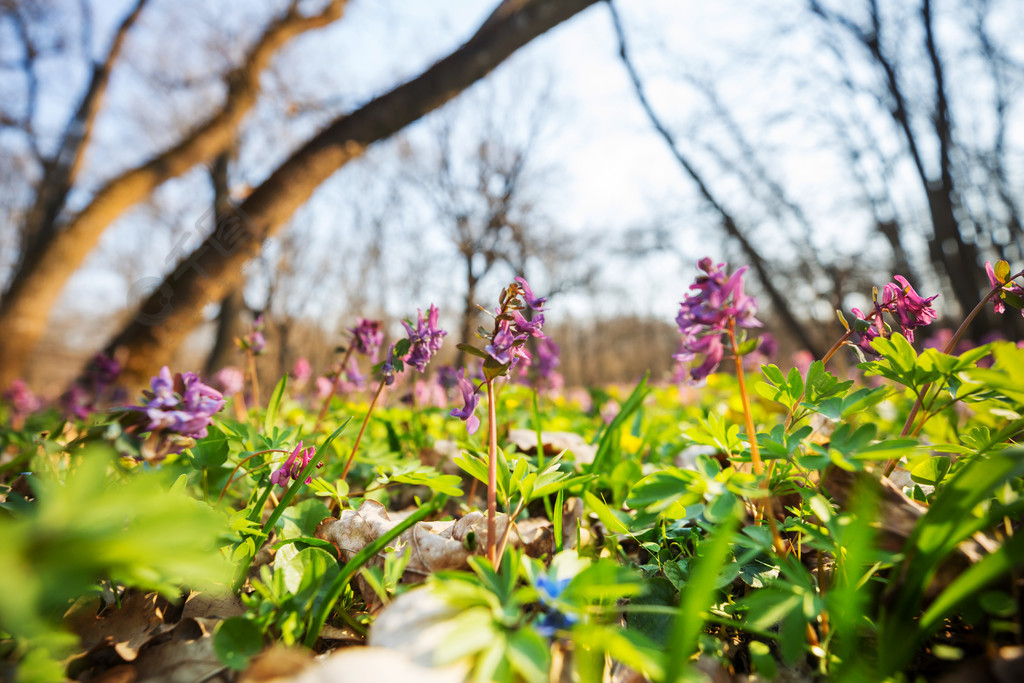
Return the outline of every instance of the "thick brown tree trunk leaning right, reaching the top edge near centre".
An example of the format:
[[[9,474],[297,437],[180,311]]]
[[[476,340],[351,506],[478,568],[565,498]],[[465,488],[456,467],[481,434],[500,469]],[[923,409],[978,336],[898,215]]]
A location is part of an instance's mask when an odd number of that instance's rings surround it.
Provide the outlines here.
[[[174,269],[111,342],[126,364],[122,380],[142,386],[202,321],[203,306],[236,287],[260,251],[313,190],[378,140],[439,108],[517,49],[597,0],[506,0],[462,47],[419,77],[343,116],[299,148]]]

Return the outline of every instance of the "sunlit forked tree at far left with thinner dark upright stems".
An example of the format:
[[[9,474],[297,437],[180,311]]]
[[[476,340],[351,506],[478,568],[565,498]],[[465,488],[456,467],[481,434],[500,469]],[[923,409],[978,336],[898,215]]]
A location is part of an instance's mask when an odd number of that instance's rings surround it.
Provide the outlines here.
[[[23,230],[26,241],[7,291],[0,299],[0,327],[9,332],[0,339],[0,385],[5,386],[24,371],[63,286],[96,246],[105,228],[167,180],[222,153],[256,104],[260,77],[278,50],[295,36],[340,17],[344,4],[344,0],[333,0],[318,13],[305,15],[300,12],[297,0],[291,2],[284,13],[268,24],[245,59],[225,75],[226,92],[219,111],[153,158],[108,180],[84,208],[56,228],[53,220],[59,215],[71,191],[73,172],[77,166],[75,160],[80,159],[85,148],[110,72],[121,54],[125,36],[135,23],[142,3],[135,6],[122,23],[106,58],[94,69],[93,80],[67,126],[57,154],[40,160],[46,172],[42,174],[35,191],[38,201],[34,202],[33,210],[27,215],[27,227]],[[22,47],[28,74],[24,100],[28,102],[28,111],[23,128],[27,123],[26,132],[30,139],[35,139],[33,119],[37,116],[37,84],[34,60],[37,48],[32,32],[18,11],[23,6],[14,4],[5,17],[15,28],[24,28],[20,32]],[[82,24],[90,26],[84,17]]]

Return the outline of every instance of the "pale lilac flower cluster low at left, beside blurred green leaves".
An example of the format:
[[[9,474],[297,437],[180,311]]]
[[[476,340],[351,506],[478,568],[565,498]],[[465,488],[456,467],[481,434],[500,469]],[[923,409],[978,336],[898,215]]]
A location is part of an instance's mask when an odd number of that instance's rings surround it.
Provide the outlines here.
[[[213,415],[224,407],[220,392],[203,384],[196,373],[179,373],[172,378],[165,366],[151,386],[152,390],[142,392],[145,402],[129,409],[148,419],[143,431],[203,438]]]

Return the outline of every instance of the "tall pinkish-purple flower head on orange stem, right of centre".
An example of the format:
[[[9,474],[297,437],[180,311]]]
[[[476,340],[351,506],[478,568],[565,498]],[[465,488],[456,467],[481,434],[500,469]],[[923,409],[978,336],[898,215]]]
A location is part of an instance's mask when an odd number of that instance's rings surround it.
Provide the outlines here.
[[[702,258],[697,267],[705,274],[698,275],[690,285],[693,293],[679,305],[676,325],[683,336],[679,351],[673,356],[680,362],[689,362],[697,354],[705,360],[690,369],[690,378],[699,381],[707,378],[725,357],[722,335],[730,323],[741,328],[759,328],[761,322],[754,317],[757,302],[743,294],[743,273],[748,266],[741,266],[726,276],[725,263],[715,265],[710,258]]]

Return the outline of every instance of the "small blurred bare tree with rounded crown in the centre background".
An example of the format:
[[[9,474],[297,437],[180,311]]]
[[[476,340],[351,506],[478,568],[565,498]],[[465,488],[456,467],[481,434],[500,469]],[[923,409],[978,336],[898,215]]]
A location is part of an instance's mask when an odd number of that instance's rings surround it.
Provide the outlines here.
[[[475,339],[487,298],[481,287],[524,275],[555,296],[596,276],[597,241],[585,245],[545,208],[557,162],[543,147],[556,116],[546,89],[521,80],[482,84],[399,146],[399,182],[415,190],[424,223],[447,239],[451,250],[437,257],[454,252],[464,278],[459,343]],[[455,362],[463,361],[459,351]]]

